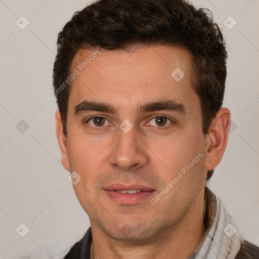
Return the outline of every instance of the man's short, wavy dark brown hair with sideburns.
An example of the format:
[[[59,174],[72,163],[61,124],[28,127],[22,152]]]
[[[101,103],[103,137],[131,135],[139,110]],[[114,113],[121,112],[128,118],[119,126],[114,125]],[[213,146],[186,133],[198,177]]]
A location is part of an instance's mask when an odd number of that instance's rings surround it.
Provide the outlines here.
[[[53,84],[65,136],[70,85],[58,90],[79,49],[131,51],[133,46],[157,45],[179,46],[191,53],[193,88],[206,134],[222,107],[227,75],[225,41],[210,11],[184,0],[99,0],[76,12],[58,35]]]

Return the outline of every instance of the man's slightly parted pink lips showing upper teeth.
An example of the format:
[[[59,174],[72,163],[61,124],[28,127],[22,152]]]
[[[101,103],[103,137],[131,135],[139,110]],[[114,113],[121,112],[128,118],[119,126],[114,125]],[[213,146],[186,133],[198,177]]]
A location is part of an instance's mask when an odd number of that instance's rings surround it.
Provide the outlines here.
[[[154,189],[144,185],[110,185],[104,188],[110,199],[119,204],[134,205],[150,198]]]

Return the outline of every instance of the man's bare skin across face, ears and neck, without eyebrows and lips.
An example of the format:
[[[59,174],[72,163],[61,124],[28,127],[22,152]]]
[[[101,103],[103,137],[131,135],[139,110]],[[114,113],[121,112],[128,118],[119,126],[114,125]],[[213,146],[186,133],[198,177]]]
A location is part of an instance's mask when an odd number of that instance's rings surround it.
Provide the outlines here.
[[[71,71],[94,51],[80,50]],[[176,68],[185,73],[180,81],[171,76]],[[91,258],[184,259],[202,239],[206,172],[217,166],[224,154],[230,111],[221,108],[204,135],[192,76],[188,51],[156,46],[131,53],[101,50],[73,79],[67,142],[59,111],[56,132],[64,167],[81,177],[73,188],[90,218]],[[138,113],[140,105],[168,99],[183,104],[186,112]],[[85,111],[74,115],[74,107],[84,100],[108,103],[117,113]],[[96,115],[105,118],[102,126],[89,120]],[[157,124],[154,117],[159,116],[165,125],[161,120]],[[119,127],[124,120],[133,125],[128,133]],[[152,204],[150,199],[200,153],[203,157],[191,170]],[[114,183],[142,184],[155,191],[138,204],[124,205],[104,190]]]

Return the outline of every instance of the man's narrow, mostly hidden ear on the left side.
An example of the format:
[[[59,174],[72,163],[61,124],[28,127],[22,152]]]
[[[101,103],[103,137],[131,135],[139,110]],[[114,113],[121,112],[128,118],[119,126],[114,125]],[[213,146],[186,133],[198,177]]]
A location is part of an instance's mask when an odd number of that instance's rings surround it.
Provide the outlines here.
[[[57,139],[59,142],[59,148],[61,151],[61,162],[64,165],[64,167],[70,171],[70,166],[69,166],[69,159],[67,155],[67,142],[66,142],[66,136],[63,132],[63,124],[61,120],[61,115],[60,111],[56,111],[56,134],[57,134]]]

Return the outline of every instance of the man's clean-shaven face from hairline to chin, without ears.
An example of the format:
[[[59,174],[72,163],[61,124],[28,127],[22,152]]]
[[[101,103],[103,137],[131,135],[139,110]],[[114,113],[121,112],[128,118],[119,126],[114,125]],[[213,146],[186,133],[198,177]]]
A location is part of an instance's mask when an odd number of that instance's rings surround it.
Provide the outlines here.
[[[62,162],[81,177],[73,187],[92,228],[148,240],[202,208],[206,139],[191,55],[165,46],[101,51],[81,68],[93,53],[81,50],[72,63],[79,73]]]

